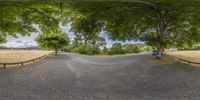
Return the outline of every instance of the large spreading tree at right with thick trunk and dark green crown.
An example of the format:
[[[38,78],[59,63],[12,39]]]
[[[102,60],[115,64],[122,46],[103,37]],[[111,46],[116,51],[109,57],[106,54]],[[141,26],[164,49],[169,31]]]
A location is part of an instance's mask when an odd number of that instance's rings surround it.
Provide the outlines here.
[[[160,58],[164,48],[200,42],[199,5],[197,0],[91,0],[73,3],[71,8],[84,17],[81,22],[95,19],[90,25],[98,23],[98,29],[113,40],[142,40],[155,46]]]

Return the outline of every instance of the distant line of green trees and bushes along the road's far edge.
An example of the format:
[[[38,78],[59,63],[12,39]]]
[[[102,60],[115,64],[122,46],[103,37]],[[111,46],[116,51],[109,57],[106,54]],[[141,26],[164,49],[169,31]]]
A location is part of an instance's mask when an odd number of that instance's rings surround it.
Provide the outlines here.
[[[87,54],[87,55],[117,55],[130,54],[151,51],[152,47],[145,44],[126,44],[115,43],[111,48],[99,47],[92,44],[81,43],[77,46],[70,45],[62,49],[62,51]]]

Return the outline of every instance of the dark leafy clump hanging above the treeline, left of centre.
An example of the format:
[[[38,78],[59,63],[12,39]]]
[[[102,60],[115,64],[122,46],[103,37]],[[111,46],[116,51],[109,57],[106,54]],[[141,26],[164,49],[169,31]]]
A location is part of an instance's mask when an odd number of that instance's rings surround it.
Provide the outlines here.
[[[94,17],[90,18],[85,19],[85,17],[79,15],[71,18],[71,30],[75,32],[76,37],[79,40],[84,41],[85,44],[90,43],[94,46],[103,45],[103,43],[105,44],[105,40],[99,36],[101,23],[96,22]]]

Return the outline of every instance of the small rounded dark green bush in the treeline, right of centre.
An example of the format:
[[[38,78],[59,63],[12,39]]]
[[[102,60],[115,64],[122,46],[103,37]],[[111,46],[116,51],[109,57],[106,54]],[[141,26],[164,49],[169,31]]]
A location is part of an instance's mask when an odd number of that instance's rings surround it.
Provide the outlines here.
[[[113,54],[125,54],[125,51],[121,45],[121,43],[115,43],[112,45],[109,54],[113,55]]]

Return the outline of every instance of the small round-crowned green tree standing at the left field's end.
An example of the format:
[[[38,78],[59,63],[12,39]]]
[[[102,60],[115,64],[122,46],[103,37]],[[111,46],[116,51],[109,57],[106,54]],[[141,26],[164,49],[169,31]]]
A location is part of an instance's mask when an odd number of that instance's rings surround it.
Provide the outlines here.
[[[42,48],[55,50],[55,55],[58,54],[58,50],[69,45],[70,42],[68,35],[58,30],[40,34],[36,41]]]

